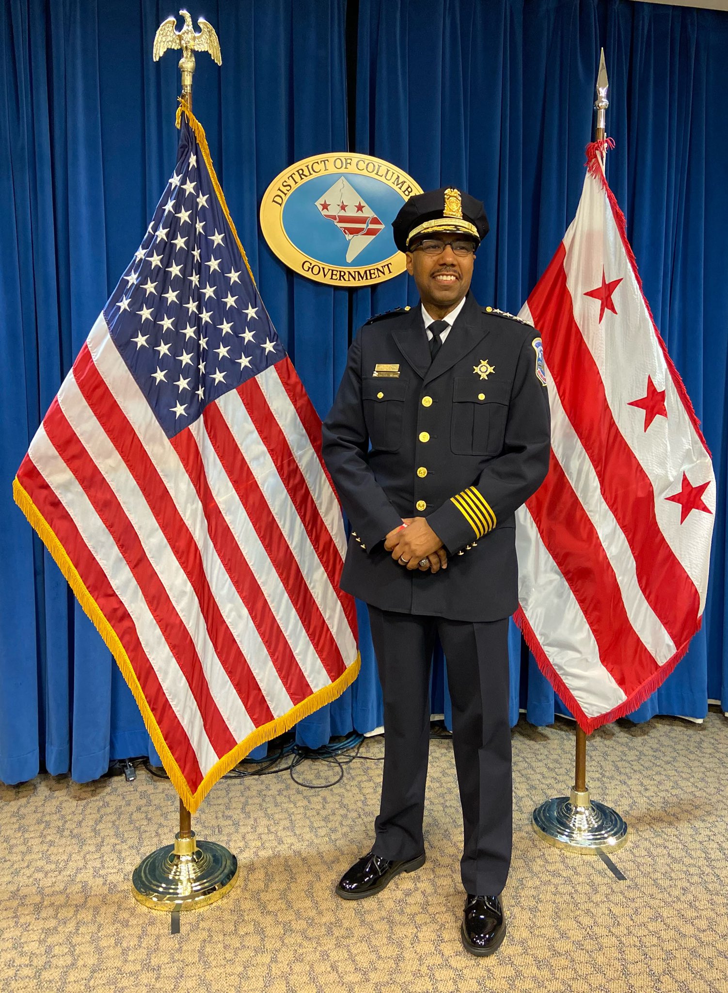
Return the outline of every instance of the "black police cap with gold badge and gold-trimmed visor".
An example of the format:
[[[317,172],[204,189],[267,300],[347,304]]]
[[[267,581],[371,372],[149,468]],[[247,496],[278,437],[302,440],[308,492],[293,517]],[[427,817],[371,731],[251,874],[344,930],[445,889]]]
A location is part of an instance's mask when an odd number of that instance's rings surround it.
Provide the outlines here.
[[[427,234],[464,234],[479,244],[490,225],[483,204],[452,187],[410,197],[392,220],[394,244],[407,251],[415,238]]]

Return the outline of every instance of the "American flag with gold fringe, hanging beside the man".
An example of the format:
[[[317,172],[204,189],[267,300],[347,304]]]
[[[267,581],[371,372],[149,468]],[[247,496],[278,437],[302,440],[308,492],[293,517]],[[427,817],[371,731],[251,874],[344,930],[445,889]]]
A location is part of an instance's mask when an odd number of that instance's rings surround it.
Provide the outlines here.
[[[192,811],[357,675],[320,434],[185,108],[175,172],[15,496]]]

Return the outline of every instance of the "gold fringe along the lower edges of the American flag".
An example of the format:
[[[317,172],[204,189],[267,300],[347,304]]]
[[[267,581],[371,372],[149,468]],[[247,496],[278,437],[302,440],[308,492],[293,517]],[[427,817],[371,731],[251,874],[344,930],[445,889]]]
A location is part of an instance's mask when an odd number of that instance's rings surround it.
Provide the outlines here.
[[[324,686],[323,689],[318,690],[316,693],[312,694],[312,696],[297,704],[281,717],[276,718],[274,721],[271,721],[269,724],[265,724],[260,728],[256,728],[255,731],[247,735],[246,738],[243,738],[241,742],[238,742],[238,744],[230,752],[228,752],[227,755],[222,756],[222,758],[218,760],[216,765],[210,770],[205,779],[193,793],[187,783],[187,780],[185,780],[185,777],[180,771],[179,766],[175,762],[172,753],[167,747],[164,737],[162,736],[162,732],[159,730],[159,726],[154,718],[154,714],[152,713],[149,704],[146,701],[144,691],[139,685],[139,680],[136,677],[136,673],[134,672],[134,668],[129,660],[129,656],[126,653],[124,646],[116,635],[116,632],[111,627],[110,623],[104,617],[100,607],[86,589],[83,580],[78,575],[69,554],[57,537],[55,531],[33,502],[33,499],[23,489],[23,486],[17,477],[13,481],[13,497],[15,502],[28,518],[31,526],[38,533],[38,536],[43,541],[46,548],[48,548],[59,569],[61,569],[61,572],[66,577],[66,580],[73,590],[73,594],[82,610],[88,616],[94,628],[101,638],[103,638],[109,651],[116,659],[116,664],[119,666],[121,674],[126,680],[129,689],[134,695],[134,699],[137,702],[139,710],[141,711],[144,725],[149,733],[149,737],[152,739],[160,759],[162,760],[162,765],[165,768],[165,772],[169,776],[173,786],[179,793],[180,799],[190,813],[195,813],[197,811],[198,807],[216,782],[221,779],[225,773],[229,773],[231,769],[234,769],[234,767],[241,762],[249,752],[252,752],[254,748],[265,744],[265,742],[270,741],[277,735],[281,735],[283,732],[289,731],[294,724],[297,724],[304,717],[308,717],[309,714],[313,714],[314,711],[318,710],[320,707],[324,707],[326,704],[332,703],[340,697],[349,686],[351,686],[359,675],[359,670],[362,664],[362,656],[360,653],[357,654],[356,659],[336,680],[336,682],[332,683],[330,686]]]

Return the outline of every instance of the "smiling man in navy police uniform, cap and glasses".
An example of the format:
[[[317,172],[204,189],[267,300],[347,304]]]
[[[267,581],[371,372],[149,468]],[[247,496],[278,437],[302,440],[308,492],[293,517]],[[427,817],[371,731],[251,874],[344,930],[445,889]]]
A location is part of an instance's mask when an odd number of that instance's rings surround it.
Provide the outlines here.
[[[358,333],[324,459],[354,528],[342,589],[368,605],[384,701],[384,771],[371,852],[340,897],[379,893],[425,861],[429,669],[447,659],[474,954],[501,944],[511,846],[508,619],[517,605],[514,511],[548,469],[540,339],[469,292],[488,232],[480,201],[442,189],[393,221],[420,305]]]

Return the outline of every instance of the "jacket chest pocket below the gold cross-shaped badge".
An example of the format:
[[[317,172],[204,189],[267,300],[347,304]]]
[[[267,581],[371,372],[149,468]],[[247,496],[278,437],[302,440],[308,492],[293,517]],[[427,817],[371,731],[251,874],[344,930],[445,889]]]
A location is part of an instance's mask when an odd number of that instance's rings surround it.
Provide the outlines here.
[[[510,383],[473,376],[453,380],[450,445],[456,455],[498,455],[503,448]]]

